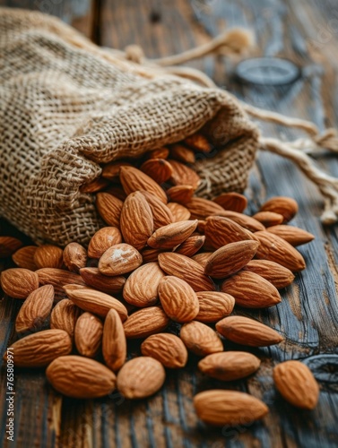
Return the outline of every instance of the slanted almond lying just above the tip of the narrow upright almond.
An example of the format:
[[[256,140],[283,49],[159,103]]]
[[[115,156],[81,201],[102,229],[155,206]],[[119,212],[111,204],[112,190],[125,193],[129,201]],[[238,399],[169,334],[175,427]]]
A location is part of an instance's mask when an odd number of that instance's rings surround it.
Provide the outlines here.
[[[113,308],[117,310],[121,320],[126,321],[128,316],[126,306],[117,300],[117,298],[91,288],[72,289],[72,285],[65,285],[64,289],[67,296],[83,311],[89,311],[90,313],[105,317],[109,309]]]

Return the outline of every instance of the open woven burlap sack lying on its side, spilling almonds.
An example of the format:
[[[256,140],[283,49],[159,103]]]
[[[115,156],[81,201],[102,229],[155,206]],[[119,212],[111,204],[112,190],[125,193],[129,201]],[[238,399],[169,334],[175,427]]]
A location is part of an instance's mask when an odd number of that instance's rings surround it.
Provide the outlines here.
[[[120,61],[56,18],[0,12],[0,214],[37,242],[86,244],[100,226],[81,185],[100,163],[203,128],[198,194],[243,191],[256,126],[226,91]]]

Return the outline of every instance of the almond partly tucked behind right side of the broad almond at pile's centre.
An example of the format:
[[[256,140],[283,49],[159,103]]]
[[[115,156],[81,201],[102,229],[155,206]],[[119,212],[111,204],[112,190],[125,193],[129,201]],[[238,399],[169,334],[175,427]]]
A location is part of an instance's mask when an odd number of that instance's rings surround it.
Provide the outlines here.
[[[213,323],[220,321],[229,315],[235,306],[234,297],[224,292],[203,291],[197,292],[199,302],[199,312],[195,320],[203,323]]]

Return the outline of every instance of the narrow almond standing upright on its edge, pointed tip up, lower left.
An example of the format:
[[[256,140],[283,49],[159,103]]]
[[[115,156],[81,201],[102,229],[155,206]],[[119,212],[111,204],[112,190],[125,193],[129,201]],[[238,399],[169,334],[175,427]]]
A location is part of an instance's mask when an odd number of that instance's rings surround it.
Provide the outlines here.
[[[117,372],[126,362],[126,336],[120,316],[111,309],[105,320],[102,354],[107,366]]]

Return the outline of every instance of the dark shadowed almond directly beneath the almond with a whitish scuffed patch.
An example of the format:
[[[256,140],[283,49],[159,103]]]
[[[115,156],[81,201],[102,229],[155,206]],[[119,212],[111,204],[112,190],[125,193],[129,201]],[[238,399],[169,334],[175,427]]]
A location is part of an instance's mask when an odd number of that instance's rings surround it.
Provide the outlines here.
[[[117,294],[123,290],[126,284],[126,278],[122,275],[108,277],[101,274],[98,268],[82,268],[80,275],[86,285],[106,294]]]

